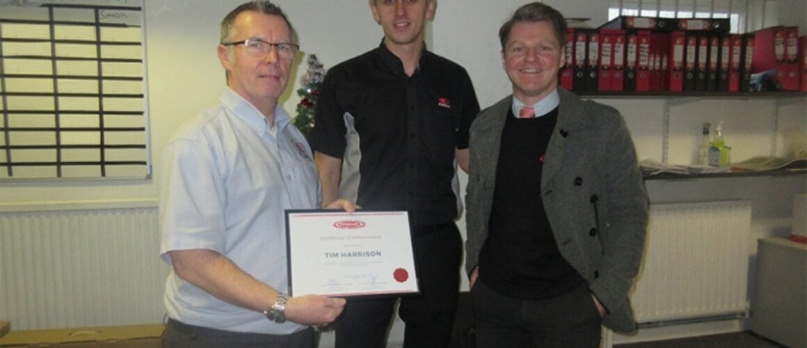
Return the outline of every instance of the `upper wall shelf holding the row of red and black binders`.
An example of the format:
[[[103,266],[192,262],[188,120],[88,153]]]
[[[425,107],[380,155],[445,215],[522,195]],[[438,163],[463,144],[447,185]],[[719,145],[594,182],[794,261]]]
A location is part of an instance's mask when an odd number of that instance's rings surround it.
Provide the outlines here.
[[[702,99],[785,99],[807,97],[807,92],[622,92],[622,91],[579,91],[574,92],[583,98],[601,99],[659,99],[659,98],[702,98]]]

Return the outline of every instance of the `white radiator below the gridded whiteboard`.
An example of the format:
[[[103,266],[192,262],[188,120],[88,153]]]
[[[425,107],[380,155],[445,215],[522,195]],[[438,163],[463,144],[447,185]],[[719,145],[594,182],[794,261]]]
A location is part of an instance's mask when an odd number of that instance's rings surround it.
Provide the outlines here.
[[[0,213],[0,320],[13,329],[160,323],[157,208]]]

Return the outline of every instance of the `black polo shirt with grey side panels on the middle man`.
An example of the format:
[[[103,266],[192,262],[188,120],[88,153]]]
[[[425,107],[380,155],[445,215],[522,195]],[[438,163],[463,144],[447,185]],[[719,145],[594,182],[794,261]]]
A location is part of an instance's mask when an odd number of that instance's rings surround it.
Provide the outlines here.
[[[341,197],[415,224],[456,219],[454,151],[479,112],[462,66],[424,50],[409,77],[382,42],[329,69],[320,91],[310,141],[343,159]]]

